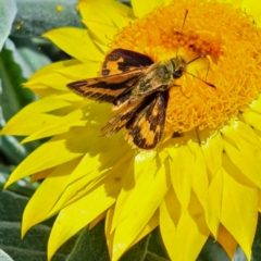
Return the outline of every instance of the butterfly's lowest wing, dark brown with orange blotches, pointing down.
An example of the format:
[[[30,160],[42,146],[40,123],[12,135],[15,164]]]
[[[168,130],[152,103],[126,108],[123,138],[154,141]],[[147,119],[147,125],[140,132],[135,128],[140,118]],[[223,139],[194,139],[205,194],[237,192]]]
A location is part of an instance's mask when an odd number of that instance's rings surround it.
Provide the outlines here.
[[[166,91],[153,94],[126,125],[132,141],[138,148],[153,149],[160,141],[165,125],[166,101]]]

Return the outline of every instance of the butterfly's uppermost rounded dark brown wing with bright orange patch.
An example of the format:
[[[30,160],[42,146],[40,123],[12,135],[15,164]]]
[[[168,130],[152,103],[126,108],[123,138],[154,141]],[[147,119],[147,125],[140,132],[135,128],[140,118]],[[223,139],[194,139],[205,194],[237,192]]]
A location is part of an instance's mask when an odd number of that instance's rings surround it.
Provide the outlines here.
[[[138,67],[148,67],[151,64],[153,64],[151,58],[139,52],[119,48],[105,57],[101,75],[121,74]]]

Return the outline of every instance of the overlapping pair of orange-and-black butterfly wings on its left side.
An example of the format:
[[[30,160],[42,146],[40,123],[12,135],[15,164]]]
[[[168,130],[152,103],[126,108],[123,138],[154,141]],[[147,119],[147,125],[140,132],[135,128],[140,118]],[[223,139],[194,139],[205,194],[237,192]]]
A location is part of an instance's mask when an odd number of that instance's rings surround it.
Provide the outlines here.
[[[152,63],[145,54],[115,49],[107,55],[101,77],[70,83],[67,87],[79,96],[111,103],[126,89],[133,88]]]

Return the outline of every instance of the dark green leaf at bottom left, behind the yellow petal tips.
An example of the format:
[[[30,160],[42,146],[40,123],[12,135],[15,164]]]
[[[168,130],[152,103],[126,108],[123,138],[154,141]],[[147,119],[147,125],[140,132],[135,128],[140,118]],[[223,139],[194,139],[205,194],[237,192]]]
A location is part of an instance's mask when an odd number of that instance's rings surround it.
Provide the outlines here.
[[[15,261],[46,261],[50,227],[44,224],[33,227],[21,239],[21,217],[28,199],[10,191],[0,192],[0,248]],[[54,254],[52,261],[65,261],[75,245],[70,239]]]

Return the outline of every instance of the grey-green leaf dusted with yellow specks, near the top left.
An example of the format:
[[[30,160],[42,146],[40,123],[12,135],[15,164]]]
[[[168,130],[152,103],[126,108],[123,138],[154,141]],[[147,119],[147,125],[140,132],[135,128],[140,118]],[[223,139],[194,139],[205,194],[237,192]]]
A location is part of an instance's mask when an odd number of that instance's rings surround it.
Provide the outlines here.
[[[76,9],[77,2],[77,0],[16,0],[17,15],[11,35],[39,37],[47,30],[58,27],[84,27]]]

